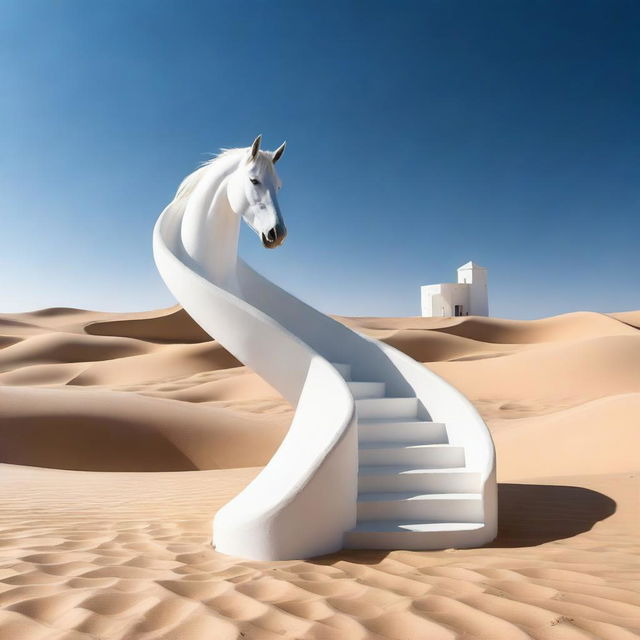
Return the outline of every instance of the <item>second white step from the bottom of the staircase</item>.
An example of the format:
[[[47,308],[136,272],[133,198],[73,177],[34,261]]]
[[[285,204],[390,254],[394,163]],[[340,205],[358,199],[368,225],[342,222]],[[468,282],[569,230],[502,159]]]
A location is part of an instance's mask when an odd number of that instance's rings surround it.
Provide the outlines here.
[[[362,493],[358,521],[420,520],[423,522],[479,522],[484,518],[479,493]]]

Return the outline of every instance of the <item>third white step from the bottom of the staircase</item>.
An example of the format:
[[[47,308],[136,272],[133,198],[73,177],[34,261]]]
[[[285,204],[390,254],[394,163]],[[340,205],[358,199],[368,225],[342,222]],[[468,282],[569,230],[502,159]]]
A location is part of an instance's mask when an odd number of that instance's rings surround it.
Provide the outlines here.
[[[480,473],[465,468],[416,469],[415,466],[361,466],[358,490],[365,492],[420,491],[473,493],[480,489]]]

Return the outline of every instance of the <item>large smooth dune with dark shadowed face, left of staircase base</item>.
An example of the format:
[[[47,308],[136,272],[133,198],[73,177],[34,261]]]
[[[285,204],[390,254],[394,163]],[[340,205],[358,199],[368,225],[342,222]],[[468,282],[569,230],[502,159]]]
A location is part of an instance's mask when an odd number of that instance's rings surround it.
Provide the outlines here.
[[[0,387],[5,463],[86,471],[256,466],[287,428],[281,414],[258,419],[132,393]]]

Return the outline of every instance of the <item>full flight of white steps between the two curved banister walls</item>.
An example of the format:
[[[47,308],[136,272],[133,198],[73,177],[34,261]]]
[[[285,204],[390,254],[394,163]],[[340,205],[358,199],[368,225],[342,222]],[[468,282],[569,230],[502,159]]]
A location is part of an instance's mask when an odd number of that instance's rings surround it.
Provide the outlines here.
[[[481,474],[465,465],[446,424],[421,416],[417,397],[389,398],[384,382],[347,380],[358,421],[356,526],[345,546],[433,549],[469,546],[485,528]]]

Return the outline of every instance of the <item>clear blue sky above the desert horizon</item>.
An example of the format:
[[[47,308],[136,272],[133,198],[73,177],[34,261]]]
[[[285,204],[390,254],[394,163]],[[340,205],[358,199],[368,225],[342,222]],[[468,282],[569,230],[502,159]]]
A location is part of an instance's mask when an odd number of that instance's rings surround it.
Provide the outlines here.
[[[173,303],[153,224],[219,147],[289,146],[287,243],[319,308],[417,315],[489,269],[492,315],[640,308],[640,3],[0,3],[0,312]]]

